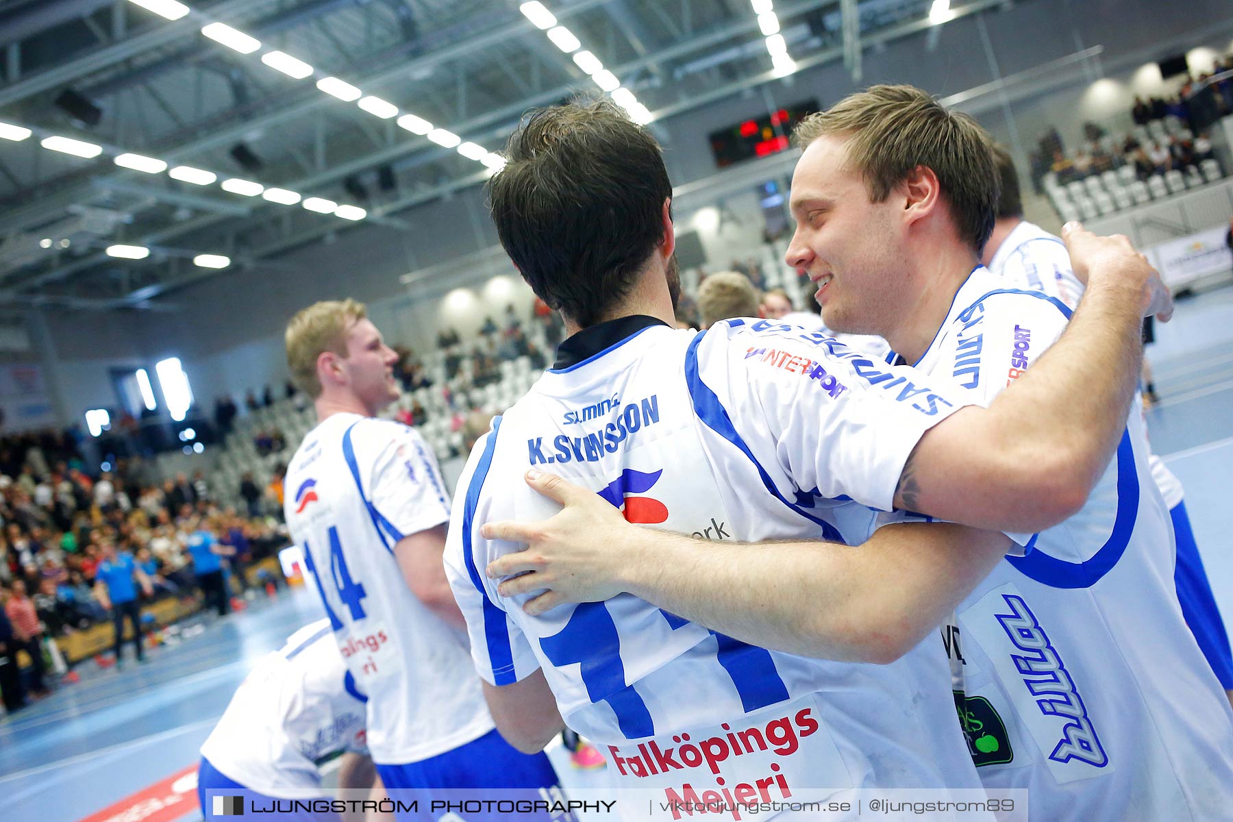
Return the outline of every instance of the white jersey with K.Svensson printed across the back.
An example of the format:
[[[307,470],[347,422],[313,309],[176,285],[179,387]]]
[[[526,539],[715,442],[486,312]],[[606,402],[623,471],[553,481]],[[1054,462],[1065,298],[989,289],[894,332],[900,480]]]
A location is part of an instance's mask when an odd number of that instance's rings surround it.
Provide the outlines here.
[[[752,647],[629,594],[533,617],[483,573],[515,546],[480,535],[486,521],[555,511],[523,482],[538,466],[629,521],[699,540],[842,540],[842,518],[816,500],[857,500],[831,505],[858,508],[867,527],[866,507],[891,507],[912,447],[962,401],[767,320],[699,334],[629,317],[571,344],[598,352],[546,372],[497,418],[459,482],[446,569],[480,674],[508,685],[543,669],[618,784],[667,799],[979,785],[933,637],[874,665]]]

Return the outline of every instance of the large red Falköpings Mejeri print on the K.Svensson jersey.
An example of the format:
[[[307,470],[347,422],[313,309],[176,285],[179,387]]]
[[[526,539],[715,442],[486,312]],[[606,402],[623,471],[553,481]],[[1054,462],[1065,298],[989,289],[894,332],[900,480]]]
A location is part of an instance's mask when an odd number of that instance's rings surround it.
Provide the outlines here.
[[[710,806],[739,821],[741,806],[790,799],[793,790],[809,786],[806,780],[826,773],[826,748],[834,744],[811,746],[821,725],[813,706],[803,705],[798,700],[742,721],[636,746],[609,744],[607,752],[623,783],[663,790],[673,820],[693,816],[682,808]]]

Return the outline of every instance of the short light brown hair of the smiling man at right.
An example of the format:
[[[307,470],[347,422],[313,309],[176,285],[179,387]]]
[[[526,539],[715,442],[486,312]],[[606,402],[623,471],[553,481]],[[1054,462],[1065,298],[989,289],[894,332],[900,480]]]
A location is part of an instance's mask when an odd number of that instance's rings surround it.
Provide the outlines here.
[[[975,120],[914,86],[875,85],[805,117],[793,140],[804,149],[827,134],[848,136],[848,164],[864,177],[873,202],[884,202],[917,166],[932,169],[961,239],[984,248],[1001,182]]]

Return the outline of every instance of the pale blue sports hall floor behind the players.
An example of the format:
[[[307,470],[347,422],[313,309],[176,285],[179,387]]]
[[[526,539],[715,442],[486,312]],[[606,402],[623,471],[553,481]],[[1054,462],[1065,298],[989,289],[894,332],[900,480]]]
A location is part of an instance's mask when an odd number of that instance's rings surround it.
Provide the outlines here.
[[[1233,286],[1179,302],[1148,355],[1160,396],[1148,415],[1153,450],[1185,486],[1216,599],[1233,615],[1233,546],[1221,519],[1233,488]],[[78,822],[192,765],[254,661],[321,616],[314,593],[301,588],[202,621],[145,665],[81,663],[79,683],[0,718],[2,818]],[[560,749],[554,762],[566,786],[600,779],[572,770]]]

